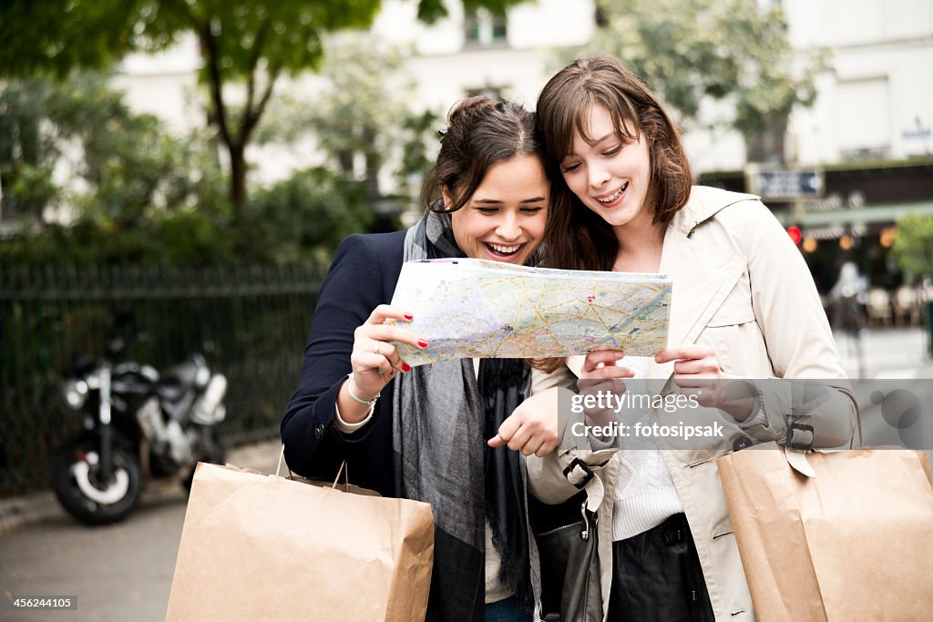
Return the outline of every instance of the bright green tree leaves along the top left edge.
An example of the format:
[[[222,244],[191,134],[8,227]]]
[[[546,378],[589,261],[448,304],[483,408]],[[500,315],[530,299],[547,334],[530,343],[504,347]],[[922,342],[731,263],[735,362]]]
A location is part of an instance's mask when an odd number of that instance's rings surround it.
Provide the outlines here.
[[[248,79],[259,65],[298,73],[322,57],[321,37],[365,28],[381,0],[9,0],[0,6],[6,76],[104,68],[130,51],[158,51],[197,35],[205,81]]]

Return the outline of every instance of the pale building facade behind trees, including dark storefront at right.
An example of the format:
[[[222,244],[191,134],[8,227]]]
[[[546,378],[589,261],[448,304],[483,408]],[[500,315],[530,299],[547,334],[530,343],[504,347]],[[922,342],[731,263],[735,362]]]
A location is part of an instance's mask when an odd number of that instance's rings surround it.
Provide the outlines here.
[[[821,183],[793,200],[764,198],[788,227],[801,228],[801,249],[822,289],[848,258],[872,284],[893,287],[906,275],[888,252],[889,230],[902,214],[933,214],[933,3],[862,0],[856,8],[846,0],[770,1],[783,5],[801,57],[823,52],[831,70],[818,78],[815,104],[793,112],[785,161],[776,165],[815,173]],[[584,48],[596,27],[593,0],[537,0],[504,16],[465,13],[460,2],[448,6],[448,18],[426,26],[416,19],[415,2],[385,0],[371,28],[376,40],[411,49],[405,69],[414,85],[406,93],[412,111],[442,114],[477,93],[534,106],[560,66],[556,50]],[[165,118],[170,127],[201,126],[199,62],[195,44],[183,42],[158,56],[128,58],[115,86],[132,107]],[[313,90],[315,79],[285,89]],[[685,142],[703,183],[757,189],[738,132],[691,131]],[[284,150],[254,152],[256,179],[273,181],[319,163],[309,161],[309,150],[302,153],[296,159]],[[391,191],[389,171],[381,181]]]

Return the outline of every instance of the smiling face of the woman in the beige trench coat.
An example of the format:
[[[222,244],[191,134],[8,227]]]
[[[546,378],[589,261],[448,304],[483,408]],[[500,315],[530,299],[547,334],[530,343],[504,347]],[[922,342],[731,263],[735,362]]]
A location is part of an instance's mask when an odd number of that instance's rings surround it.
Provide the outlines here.
[[[635,141],[620,138],[609,111],[599,104],[590,110],[586,133],[592,142],[574,131],[573,148],[561,162],[567,187],[613,227],[649,225],[651,160],[645,133],[639,131]]]

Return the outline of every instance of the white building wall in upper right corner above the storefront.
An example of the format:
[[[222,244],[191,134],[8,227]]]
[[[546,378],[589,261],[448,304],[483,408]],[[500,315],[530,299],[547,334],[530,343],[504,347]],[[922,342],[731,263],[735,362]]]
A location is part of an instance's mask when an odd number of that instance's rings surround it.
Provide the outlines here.
[[[887,159],[933,153],[933,2],[786,0],[791,42],[823,49],[833,72],[815,106],[797,111],[801,164],[877,149]]]

